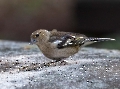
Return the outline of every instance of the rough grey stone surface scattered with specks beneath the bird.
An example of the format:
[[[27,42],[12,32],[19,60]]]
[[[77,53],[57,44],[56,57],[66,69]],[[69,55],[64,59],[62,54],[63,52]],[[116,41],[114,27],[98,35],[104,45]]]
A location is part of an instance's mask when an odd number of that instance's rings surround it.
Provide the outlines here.
[[[120,89],[120,51],[84,47],[50,63],[35,45],[0,41],[1,89]]]

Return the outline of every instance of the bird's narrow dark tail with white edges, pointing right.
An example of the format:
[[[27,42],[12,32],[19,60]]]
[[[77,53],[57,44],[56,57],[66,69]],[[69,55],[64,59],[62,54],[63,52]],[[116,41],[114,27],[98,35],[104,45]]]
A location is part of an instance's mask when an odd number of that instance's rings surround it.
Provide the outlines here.
[[[79,42],[80,46],[86,46],[95,42],[101,42],[101,41],[115,41],[115,39],[112,38],[95,38],[95,37],[88,37]]]

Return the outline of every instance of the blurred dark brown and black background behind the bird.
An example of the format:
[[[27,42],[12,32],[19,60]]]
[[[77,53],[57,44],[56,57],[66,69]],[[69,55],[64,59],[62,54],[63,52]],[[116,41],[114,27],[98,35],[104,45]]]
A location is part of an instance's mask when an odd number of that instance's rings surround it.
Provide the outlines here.
[[[37,29],[57,29],[116,41],[90,46],[120,49],[118,0],[0,0],[0,39],[30,41]]]

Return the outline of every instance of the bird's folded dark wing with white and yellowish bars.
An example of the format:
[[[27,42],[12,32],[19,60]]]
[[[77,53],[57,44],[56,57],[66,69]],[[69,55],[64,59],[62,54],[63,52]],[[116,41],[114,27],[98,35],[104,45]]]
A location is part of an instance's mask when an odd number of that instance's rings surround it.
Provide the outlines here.
[[[57,48],[78,46],[86,38],[85,35],[71,32],[51,32],[49,42],[57,44]]]

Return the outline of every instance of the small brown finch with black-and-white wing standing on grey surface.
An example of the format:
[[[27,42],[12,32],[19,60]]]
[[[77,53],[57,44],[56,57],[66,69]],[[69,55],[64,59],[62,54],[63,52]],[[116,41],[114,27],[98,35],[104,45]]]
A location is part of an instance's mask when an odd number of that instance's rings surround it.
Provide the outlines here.
[[[36,44],[44,56],[49,59],[60,61],[68,58],[89,44],[101,41],[114,41],[112,38],[87,37],[84,34],[39,29],[31,36],[31,43]]]

